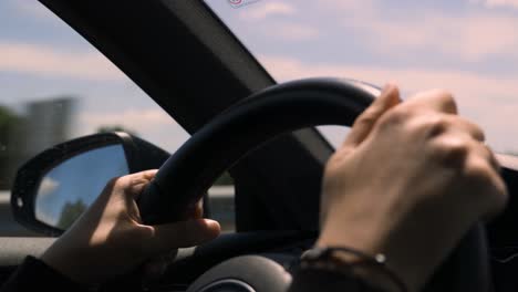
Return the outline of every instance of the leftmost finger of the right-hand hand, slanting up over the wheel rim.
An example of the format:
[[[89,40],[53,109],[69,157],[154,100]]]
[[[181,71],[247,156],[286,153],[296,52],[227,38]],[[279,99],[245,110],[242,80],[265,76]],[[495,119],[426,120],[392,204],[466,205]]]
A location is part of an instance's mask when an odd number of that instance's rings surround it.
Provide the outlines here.
[[[343,143],[343,147],[354,148],[362,143],[371,132],[377,119],[390,108],[400,104],[400,91],[397,86],[387,84],[380,94],[380,97],[354,121],[351,131]]]

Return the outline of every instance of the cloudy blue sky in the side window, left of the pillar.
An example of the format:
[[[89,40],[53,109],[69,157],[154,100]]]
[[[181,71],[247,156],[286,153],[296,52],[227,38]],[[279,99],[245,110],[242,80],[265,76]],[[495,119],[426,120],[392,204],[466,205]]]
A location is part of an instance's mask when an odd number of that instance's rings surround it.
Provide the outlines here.
[[[60,96],[76,101],[70,138],[106,125],[123,125],[169,152],[188,138],[124,73],[38,1],[1,0],[0,105],[22,114],[27,103]]]

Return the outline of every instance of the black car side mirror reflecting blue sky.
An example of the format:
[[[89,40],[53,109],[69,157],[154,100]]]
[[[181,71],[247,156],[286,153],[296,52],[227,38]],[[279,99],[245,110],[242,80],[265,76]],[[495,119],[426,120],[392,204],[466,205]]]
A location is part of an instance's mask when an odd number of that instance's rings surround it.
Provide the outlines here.
[[[59,236],[110,179],[159,168],[168,157],[167,152],[123,132],[56,145],[18,170],[11,189],[14,219],[31,230]]]

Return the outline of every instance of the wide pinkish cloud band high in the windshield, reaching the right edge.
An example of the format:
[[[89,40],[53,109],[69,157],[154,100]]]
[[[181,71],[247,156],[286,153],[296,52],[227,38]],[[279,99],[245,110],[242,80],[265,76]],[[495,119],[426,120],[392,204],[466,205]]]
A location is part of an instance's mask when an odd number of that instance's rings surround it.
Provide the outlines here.
[[[517,60],[517,25],[518,19],[515,18],[432,14],[421,20],[362,21],[355,28],[365,32],[363,36],[370,42],[370,48],[379,53],[404,55],[432,51],[476,62],[495,55]]]

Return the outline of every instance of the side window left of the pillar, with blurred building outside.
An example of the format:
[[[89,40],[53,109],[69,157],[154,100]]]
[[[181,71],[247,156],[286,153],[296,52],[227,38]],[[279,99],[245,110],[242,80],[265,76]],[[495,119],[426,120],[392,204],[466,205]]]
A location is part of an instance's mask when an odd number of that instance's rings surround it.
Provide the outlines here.
[[[0,236],[18,167],[64,140],[125,131],[169,153],[189,135],[103,54],[35,0],[0,1]],[[234,229],[231,179],[211,213]],[[2,221],[3,220],[3,221]]]

